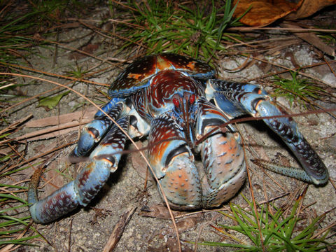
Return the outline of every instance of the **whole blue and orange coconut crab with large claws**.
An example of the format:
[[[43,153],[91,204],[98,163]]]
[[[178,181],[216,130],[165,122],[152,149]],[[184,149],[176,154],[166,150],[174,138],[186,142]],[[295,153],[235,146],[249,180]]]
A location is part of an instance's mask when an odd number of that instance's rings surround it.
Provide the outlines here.
[[[78,205],[86,206],[116,171],[121,152],[132,137],[148,136],[148,161],[174,209],[218,207],[244,183],[246,164],[241,139],[231,118],[286,115],[258,85],[215,78],[208,64],[164,53],[141,57],[127,66],[109,88],[111,100],[94,116],[69,155],[90,163],[74,181],[38,200],[38,177],[28,190],[36,223],[50,223]],[[114,124],[111,120],[116,121]],[[301,169],[269,167],[303,181],[323,184],[328,169],[290,117],[264,119],[300,161]],[[126,134],[127,133],[127,134]],[[201,153],[197,169],[193,153]]]

